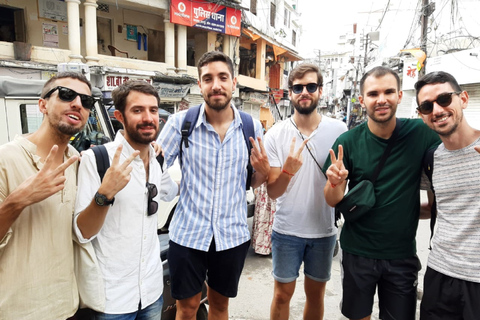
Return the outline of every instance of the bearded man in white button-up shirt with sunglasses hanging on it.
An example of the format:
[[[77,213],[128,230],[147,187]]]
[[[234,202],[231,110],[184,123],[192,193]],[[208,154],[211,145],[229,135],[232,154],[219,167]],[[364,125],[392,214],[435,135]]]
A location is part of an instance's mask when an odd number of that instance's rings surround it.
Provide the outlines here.
[[[82,156],[74,229],[81,243],[92,242],[103,275],[105,305],[95,319],[159,320],[163,269],[156,212],[159,200],[178,193],[150,144],[159,132],[160,98],[138,80],[117,87],[112,98],[125,129],[105,144],[111,166],[102,181],[93,151]]]

